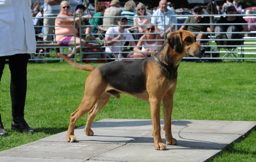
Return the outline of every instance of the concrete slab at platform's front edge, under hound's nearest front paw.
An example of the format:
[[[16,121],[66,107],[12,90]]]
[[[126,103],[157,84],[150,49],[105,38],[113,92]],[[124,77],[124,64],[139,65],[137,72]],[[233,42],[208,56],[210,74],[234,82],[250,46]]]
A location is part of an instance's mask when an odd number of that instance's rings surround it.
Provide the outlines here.
[[[221,149],[200,149],[189,147],[169,147],[159,151],[147,145],[124,145],[118,149],[102,153],[90,160],[115,160],[119,162],[203,162],[220,153]]]

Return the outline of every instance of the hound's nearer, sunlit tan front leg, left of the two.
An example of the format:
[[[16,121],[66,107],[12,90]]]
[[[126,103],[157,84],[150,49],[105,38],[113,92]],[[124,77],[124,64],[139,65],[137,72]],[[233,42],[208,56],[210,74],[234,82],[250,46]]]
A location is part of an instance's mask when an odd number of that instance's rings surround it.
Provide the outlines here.
[[[161,126],[160,126],[160,105],[161,99],[150,98],[150,112],[152,121],[152,135],[154,136],[154,145],[156,150],[166,150],[166,145],[161,138]]]

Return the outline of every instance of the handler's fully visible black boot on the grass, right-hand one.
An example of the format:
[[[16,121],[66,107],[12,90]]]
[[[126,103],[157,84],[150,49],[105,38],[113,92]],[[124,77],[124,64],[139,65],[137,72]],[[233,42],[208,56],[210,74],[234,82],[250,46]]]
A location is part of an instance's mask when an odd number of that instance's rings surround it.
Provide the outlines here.
[[[37,132],[37,130],[30,128],[30,126],[28,126],[24,117],[13,117],[13,121],[11,122],[11,130],[18,130],[20,132],[28,133]]]

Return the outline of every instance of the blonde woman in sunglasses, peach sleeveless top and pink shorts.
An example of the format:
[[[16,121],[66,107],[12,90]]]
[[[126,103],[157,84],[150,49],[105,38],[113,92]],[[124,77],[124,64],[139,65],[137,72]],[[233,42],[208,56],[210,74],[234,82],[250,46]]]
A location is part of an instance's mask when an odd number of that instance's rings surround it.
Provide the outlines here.
[[[61,18],[61,17],[69,17],[73,16],[72,13],[69,13],[70,5],[66,0],[63,0],[60,4],[60,13],[57,15],[55,19],[55,34],[56,41],[63,46],[76,46],[76,52],[80,52],[80,37],[78,36],[78,30],[76,29],[76,37],[74,36],[74,18]],[[82,16],[81,21],[83,21],[87,16]],[[75,22],[79,22],[79,17],[75,18]],[[73,26],[72,26],[73,25]],[[70,26],[70,27],[64,27]],[[70,35],[57,35],[57,34],[70,34]],[[76,45],[74,44],[74,40],[76,39]],[[67,41],[67,42],[63,42]],[[82,46],[85,46],[85,39],[82,38]],[[72,49],[72,53],[75,52],[75,48]],[[69,58],[73,58],[74,54],[67,55]]]

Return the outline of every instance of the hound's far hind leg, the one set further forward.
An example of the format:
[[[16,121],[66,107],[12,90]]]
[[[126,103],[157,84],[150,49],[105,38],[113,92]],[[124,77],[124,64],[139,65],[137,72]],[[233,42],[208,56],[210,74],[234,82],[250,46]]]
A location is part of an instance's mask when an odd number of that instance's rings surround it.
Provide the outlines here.
[[[91,124],[93,120],[95,119],[96,115],[103,109],[103,107],[108,103],[108,100],[110,98],[110,94],[104,93],[100,99],[97,101],[93,109],[88,114],[87,123],[85,126],[85,134],[87,136],[92,136],[94,133],[91,130]]]

